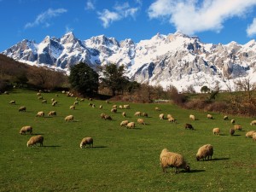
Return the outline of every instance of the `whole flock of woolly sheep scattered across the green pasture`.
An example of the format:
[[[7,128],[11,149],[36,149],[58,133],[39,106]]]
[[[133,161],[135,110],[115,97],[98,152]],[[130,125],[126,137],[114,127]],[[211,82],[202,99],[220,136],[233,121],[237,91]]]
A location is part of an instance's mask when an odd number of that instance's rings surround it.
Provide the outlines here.
[[[71,93],[63,91],[62,93],[65,93],[67,96],[73,96]],[[40,92],[38,92],[37,94],[38,99],[42,100],[42,103],[47,103],[47,100],[43,99],[43,96],[41,95]],[[58,95],[56,95],[58,96]],[[89,99],[90,101],[92,101],[92,99]],[[75,98],[75,102],[73,102],[73,105],[70,106],[71,110],[74,110],[76,108],[76,105],[79,104],[79,102],[84,102],[84,98],[80,99],[79,98]],[[58,103],[57,101],[55,101],[55,99],[51,99],[52,102],[52,106],[56,106],[56,104]],[[108,101],[106,101],[107,104],[109,104]],[[15,104],[15,101],[10,101],[9,104]],[[93,103],[89,103],[89,106],[91,108],[96,108],[96,105]],[[102,105],[99,106],[99,109],[102,109]],[[117,105],[113,105],[112,108],[110,108],[109,112],[110,113],[117,113],[117,111],[119,109],[130,109],[130,105],[120,105],[119,108]],[[154,108],[154,110],[156,111],[160,111],[160,108]],[[19,112],[26,112],[26,107],[22,106],[19,108]],[[57,113],[55,111],[50,111],[48,113],[48,116],[56,116]],[[125,118],[126,117],[126,113],[122,112],[122,116]],[[36,114],[36,117],[44,117],[44,111],[39,111]],[[101,119],[105,119],[105,120],[112,120],[111,115],[106,114],[106,113],[101,113],[100,114]],[[140,112],[137,111],[136,113],[134,113],[134,117],[137,117],[137,124],[138,125],[146,125],[143,117],[148,118],[148,113],[145,112]],[[167,119],[169,122],[172,123],[177,123],[177,119],[172,117],[172,114],[167,114],[165,115],[165,113],[160,113],[159,115],[159,119]],[[195,115],[190,114],[189,115],[189,119],[191,120],[196,120],[195,119]],[[207,114],[207,119],[213,119],[212,114]],[[224,120],[228,120],[228,116],[224,116]],[[69,122],[69,121],[73,121],[74,117],[72,114],[67,115],[67,117],[65,117],[64,119],[65,121]],[[230,123],[231,124],[235,124],[235,119],[231,119]],[[122,120],[119,124],[120,126],[125,126],[127,129],[133,129],[136,127],[136,122],[135,121],[131,121],[129,122],[129,120],[125,119]],[[253,120],[250,125],[256,125],[256,120]],[[185,129],[190,129],[190,130],[195,130],[194,126],[187,123],[184,125]],[[230,135],[233,136],[235,131],[241,131],[242,127],[239,124],[235,124],[233,128],[230,129]],[[26,132],[28,132],[29,134],[32,135],[32,126],[31,125],[26,125],[21,127],[20,129],[20,134],[25,134]],[[218,127],[213,128],[212,129],[212,133],[214,135],[220,135],[220,129]],[[253,141],[256,141],[256,131],[247,131],[246,133],[246,137],[252,137]],[[31,137],[26,145],[27,147],[31,147],[34,145],[37,145],[37,143],[40,144],[40,146],[43,146],[44,143],[44,137],[42,135],[37,135],[37,136],[33,136]],[[93,138],[92,137],[84,137],[80,143],[80,148],[86,148],[86,145],[89,145],[89,147],[93,147]],[[196,156],[196,160],[212,160],[212,155],[213,155],[213,147],[211,144],[205,144],[203,146],[201,146],[201,148],[198,149]],[[186,160],[184,160],[183,155],[182,154],[177,154],[175,152],[171,152],[169,151],[167,148],[164,148],[161,153],[160,153],[160,166],[162,167],[163,172],[166,172],[166,168],[168,167],[174,167],[175,168],[175,172],[178,171],[179,168],[183,168],[185,171],[189,172],[190,171],[190,167],[188,165],[188,163],[186,162]]]

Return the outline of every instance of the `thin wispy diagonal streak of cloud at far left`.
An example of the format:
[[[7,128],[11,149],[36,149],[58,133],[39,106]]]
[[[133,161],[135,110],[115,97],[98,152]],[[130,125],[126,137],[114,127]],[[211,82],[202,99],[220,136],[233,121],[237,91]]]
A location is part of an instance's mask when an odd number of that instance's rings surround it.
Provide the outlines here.
[[[44,25],[44,27],[49,27],[48,20],[53,17],[59,16],[65,12],[67,12],[67,9],[48,9],[44,13],[38,15],[36,20],[34,20],[33,22],[26,23],[24,28],[30,28],[33,26],[38,26],[40,24]]]

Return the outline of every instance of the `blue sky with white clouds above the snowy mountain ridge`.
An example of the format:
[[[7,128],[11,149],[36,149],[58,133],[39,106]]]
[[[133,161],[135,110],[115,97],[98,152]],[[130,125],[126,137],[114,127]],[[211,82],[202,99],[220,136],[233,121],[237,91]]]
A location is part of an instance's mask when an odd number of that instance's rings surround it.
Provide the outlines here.
[[[0,0],[0,20],[0,51],[66,32],[138,43],[180,31],[203,43],[246,44],[256,38],[256,0]]]

